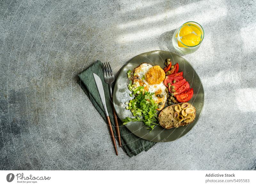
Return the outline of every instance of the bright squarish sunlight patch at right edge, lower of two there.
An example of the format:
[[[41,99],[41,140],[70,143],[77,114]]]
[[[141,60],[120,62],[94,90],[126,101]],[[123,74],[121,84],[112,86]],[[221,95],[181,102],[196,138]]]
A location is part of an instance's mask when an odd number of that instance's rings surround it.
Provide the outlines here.
[[[241,112],[256,112],[256,89],[238,89],[236,104]]]

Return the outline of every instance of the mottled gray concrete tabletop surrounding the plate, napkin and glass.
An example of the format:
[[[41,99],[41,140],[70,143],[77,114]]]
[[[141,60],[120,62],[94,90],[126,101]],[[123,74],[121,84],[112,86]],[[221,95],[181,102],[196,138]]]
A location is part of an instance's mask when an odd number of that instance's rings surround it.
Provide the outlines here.
[[[255,1],[0,1],[0,169],[256,169]],[[115,74],[132,57],[173,51],[171,31],[199,22],[183,57],[205,89],[181,139],[129,158],[77,85],[95,60]]]

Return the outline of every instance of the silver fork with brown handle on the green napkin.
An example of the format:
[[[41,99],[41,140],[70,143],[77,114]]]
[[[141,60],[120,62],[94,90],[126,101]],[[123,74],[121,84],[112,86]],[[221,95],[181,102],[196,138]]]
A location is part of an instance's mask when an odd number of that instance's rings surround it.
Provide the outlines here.
[[[120,138],[120,131],[119,131],[119,126],[117,122],[115,107],[113,104],[113,95],[112,95],[112,87],[111,87],[111,84],[115,81],[115,77],[109,63],[104,63],[103,72],[104,72],[104,80],[106,83],[108,83],[108,87],[109,87],[109,94],[110,94],[110,99],[113,107],[114,120],[116,124],[116,133],[117,133],[119,146],[121,147],[122,144],[121,144],[121,138]]]

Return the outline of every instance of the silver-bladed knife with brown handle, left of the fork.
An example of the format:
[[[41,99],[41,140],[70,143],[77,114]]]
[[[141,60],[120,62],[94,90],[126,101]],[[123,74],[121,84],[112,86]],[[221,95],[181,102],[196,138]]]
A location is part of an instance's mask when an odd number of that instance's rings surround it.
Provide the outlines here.
[[[111,125],[111,122],[110,122],[110,118],[109,118],[108,110],[107,110],[107,106],[106,106],[105,94],[104,94],[104,89],[103,89],[103,86],[102,86],[102,81],[100,80],[100,77],[97,74],[94,74],[94,73],[92,73],[92,74],[93,74],[97,89],[98,89],[99,94],[100,94],[100,99],[102,101],[102,105],[103,105],[104,112],[105,112],[105,115],[106,115],[108,127],[109,127],[109,130],[110,130],[110,134],[111,134],[111,137],[112,137],[114,147],[115,147],[116,155],[118,155],[117,148],[116,148],[116,140],[115,140],[115,137],[114,137],[112,125]]]

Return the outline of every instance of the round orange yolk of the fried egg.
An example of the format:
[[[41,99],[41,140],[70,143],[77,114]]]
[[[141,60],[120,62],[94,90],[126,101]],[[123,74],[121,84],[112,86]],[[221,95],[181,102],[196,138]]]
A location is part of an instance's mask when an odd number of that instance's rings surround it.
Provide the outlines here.
[[[145,80],[149,85],[160,84],[164,78],[164,70],[158,65],[151,67],[145,75]]]

